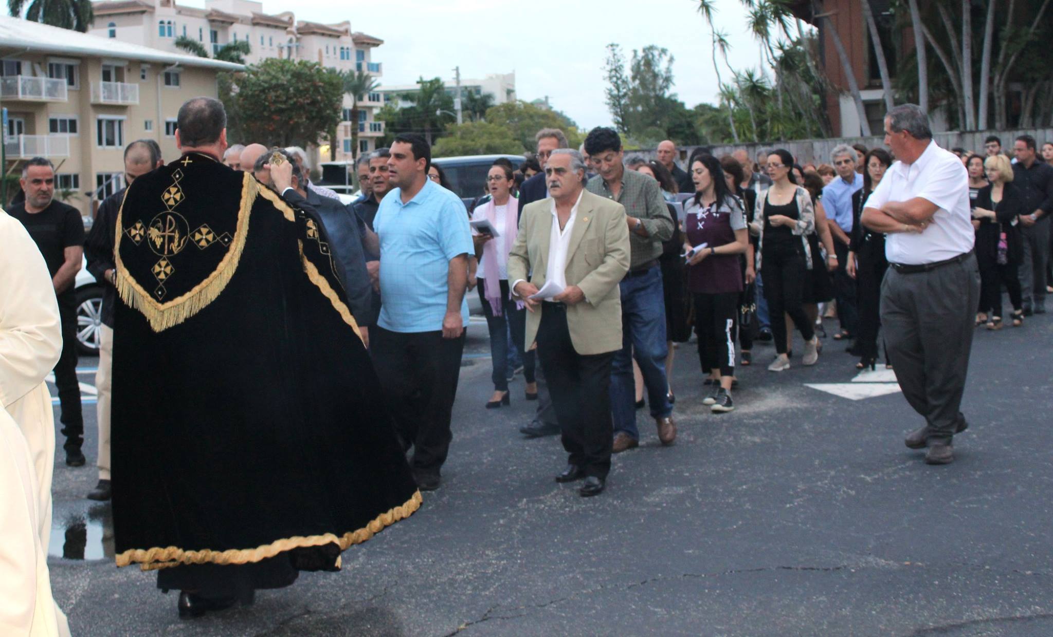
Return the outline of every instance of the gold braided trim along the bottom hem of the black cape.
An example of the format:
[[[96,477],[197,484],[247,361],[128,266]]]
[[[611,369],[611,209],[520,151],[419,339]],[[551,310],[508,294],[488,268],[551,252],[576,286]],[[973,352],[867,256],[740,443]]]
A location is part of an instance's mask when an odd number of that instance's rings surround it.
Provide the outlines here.
[[[321,546],[323,544],[338,544],[340,546],[340,551],[346,551],[351,545],[361,544],[374,535],[383,531],[385,527],[410,517],[418,509],[420,509],[421,502],[422,499],[420,497],[420,492],[416,491],[414,492],[413,497],[406,500],[406,502],[401,506],[395,506],[386,513],[382,513],[377,516],[362,529],[345,533],[339,537],[332,533],[312,535],[309,537],[298,536],[276,540],[270,544],[263,544],[255,549],[230,549],[227,551],[211,551],[208,549],[202,549],[200,551],[184,551],[178,546],[167,546],[165,549],[154,548],[146,550],[131,549],[118,555],[116,561],[118,566],[127,566],[133,562],[136,562],[139,563],[139,568],[143,571],[155,571],[158,569],[167,569],[170,566],[178,566],[181,564],[246,564],[259,562],[274,557],[279,553],[292,551],[293,549]],[[340,562],[338,560],[338,568],[339,564]]]

